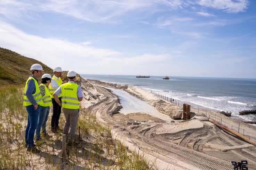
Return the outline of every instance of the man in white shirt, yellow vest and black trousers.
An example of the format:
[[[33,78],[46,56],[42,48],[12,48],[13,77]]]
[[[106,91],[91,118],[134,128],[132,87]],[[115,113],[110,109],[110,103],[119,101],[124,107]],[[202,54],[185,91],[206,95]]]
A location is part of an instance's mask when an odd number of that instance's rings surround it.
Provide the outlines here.
[[[64,78],[62,77],[62,69],[61,67],[55,67],[53,69],[54,76],[51,79],[51,83],[49,85],[50,96],[53,102],[53,115],[51,116],[51,131],[53,133],[57,133],[59,128],[59,116],[61,116],[61,106],[55,102],[53,93],[65,83]],[[61,101],[61,95],[58,96],[59,100]]]

